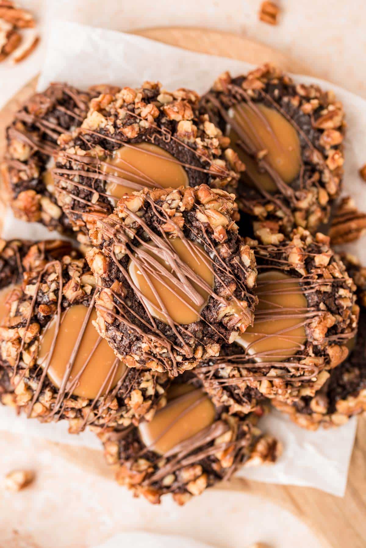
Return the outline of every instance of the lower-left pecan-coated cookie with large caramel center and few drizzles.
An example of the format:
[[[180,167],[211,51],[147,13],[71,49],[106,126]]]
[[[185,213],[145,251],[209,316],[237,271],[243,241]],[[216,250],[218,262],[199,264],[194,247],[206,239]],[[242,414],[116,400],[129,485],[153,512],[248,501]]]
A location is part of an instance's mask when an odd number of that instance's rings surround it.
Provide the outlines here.
[[[70,432],[151,418],[168,383],[115,357],[93,327],[94,297],[86,260],[65,255],[25,273],[0,328],[14,404],[42,421],[68,419]]]

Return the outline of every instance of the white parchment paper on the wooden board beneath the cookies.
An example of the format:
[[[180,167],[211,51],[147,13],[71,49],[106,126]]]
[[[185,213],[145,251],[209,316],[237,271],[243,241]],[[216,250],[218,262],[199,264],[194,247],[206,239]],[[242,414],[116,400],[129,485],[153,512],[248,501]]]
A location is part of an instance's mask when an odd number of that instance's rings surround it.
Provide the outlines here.
[[[159,80],[167,89],[188,87],[203,93],[224,70],[236,75],[250,68],[242,61],[192,53],[142,37],[53,21],[38,87],[44,89],[54,81],[67,81],[81,88],[101,82],[133,87],[144,80]],[[351,193],[358,207],[362,208],[364,204],[366,209],[366,184],[357,173],[366,162],[366,101],[329,82],[305,76],[294,78],[295,81],[316,82],[324,89],[333,89],[344,103],[348,124],[345,193]],[[41,225],[15,221],[12,214],[7,213],[5,238],[54,236]],[[347,250],[357,254],[365,264],[364,244],[365,239],[361,239],[348,246]],[[308,432],[274,412],[264,418],[260,426],[262,430],[278,436],[284,445],[283,456],[273,466],[244,469],[238,475],[268,483],[316,487],[338,496],[344,494],[356,433],[355,419],[339,429]],[[98,440],[90,432],[70,436],[65,423],[41,425],[22,416],[14,419],[13,411],[7,408],[0,409],[0,430],[90,448],[99,447]]]

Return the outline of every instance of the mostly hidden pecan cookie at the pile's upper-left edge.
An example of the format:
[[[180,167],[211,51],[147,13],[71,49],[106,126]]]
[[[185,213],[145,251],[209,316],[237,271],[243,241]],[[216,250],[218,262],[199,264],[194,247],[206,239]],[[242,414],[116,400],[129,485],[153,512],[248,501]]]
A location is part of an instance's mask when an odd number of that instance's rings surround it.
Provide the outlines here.
[[[51,84],[26,101],[7,128],[3,180],[16,217],[42,222],[49,230],[71,231],[54,195],[53,153],[62,133],[80,125],[97,92]]]

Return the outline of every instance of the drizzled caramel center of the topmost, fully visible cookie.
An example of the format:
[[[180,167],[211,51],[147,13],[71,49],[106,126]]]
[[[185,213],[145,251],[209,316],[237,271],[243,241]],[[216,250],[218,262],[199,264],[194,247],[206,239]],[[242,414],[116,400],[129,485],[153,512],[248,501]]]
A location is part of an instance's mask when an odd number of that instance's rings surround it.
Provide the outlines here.
[[[202,246],[189,240],[183,242],[175,238],[169,240],[169,244],[171,254],[163,248],[156,248],[153,242],[147,244],[151,247],[140,246],[129,261],[128,272],[142,293],[142,300],[151,316],[165,323],[168,323],[168,318],[181,325],[194,323],[199,320],[199,313],[209,300],[202,281],[211,289],[214,284],[210,258]],[[174,258],[174,254],[180,261]]]

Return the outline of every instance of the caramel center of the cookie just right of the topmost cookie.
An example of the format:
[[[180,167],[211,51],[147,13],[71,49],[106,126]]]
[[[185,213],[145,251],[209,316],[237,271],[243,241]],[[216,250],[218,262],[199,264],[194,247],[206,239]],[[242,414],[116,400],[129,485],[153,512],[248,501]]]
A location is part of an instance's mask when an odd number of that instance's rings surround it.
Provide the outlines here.
[[[236,342],[256,362],[281,362],[306,341],[307,300],[299,282],[277,270],[258,274],[257,284],[254,326]]]

